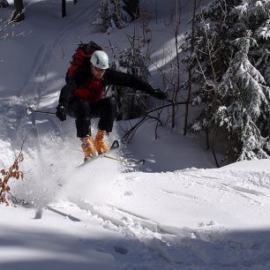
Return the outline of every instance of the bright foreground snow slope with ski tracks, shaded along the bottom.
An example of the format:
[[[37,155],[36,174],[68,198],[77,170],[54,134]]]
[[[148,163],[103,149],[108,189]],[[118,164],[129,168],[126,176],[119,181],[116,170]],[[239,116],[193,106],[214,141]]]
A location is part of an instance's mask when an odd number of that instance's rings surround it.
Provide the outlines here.
[[[1,206],[0,269],[269,269],[270,164],[248,165],[77,172],[42,210]]]

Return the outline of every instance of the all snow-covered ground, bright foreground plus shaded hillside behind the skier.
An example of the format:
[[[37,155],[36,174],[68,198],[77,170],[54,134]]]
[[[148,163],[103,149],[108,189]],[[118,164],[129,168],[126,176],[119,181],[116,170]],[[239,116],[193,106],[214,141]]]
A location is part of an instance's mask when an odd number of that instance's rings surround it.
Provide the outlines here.
[[[147,3],[157,14],[151,48],[161,63],[163,49],[174,47],[164,24],[174,1]],[[184,137],[180,126],[160,127],[155,140],[147,123],[117,154],[146,158],[144,167],[101,159],[76,169],[82,154],[74,121],[25,113],[29,105],[55,111],[79,41],[126,46],[122,31],[106,35],[91,25],[97,10],[98,1],[69,2],[61,19],[60,1],[34,1],[25,21],[0,28],[0,169],[27,135],[25,179],[13,181],[11,193],[29,203],[0,206],[0,269],[270,269],[269,160],[214,169],[204,143]],[[0,11],[3,24],[11,7]],[[117,122],[110,140],[128,126]]]

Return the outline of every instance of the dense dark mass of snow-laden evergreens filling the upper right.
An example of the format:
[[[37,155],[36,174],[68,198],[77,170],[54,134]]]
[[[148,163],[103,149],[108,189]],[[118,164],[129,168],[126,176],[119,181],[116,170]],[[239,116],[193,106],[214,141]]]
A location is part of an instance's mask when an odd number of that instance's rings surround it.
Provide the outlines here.
[[[194,101],[202,101],[196,127],[227,127],[238,160],[269,158],[270,1],[215,0],[196,15],[182,47],[193,70]]]

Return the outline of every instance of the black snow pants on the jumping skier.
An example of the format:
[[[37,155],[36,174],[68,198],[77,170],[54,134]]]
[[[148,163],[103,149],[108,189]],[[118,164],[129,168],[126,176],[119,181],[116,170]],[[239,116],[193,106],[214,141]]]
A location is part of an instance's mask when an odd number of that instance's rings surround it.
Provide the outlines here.
[[[91,136],[91,117],[99,116],[98,129],[111,132],[116,118],[116,104],[111,98],[104,98],[93,104],[71,98],[68,105],[68,115],[75,117],[77,137]]]

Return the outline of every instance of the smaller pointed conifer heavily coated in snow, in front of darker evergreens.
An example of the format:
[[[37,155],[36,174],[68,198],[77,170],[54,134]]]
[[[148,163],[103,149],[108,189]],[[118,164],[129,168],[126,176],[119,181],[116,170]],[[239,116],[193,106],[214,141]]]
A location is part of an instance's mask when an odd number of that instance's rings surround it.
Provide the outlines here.
[[[215,124],[225,125],[236,135],[241,146],[239,160],[268,158],[270,150],[269,138],[262,136],[268,129],[270,88],[249,60],[249,50],[256,44],[250,34],[251,31],[236,40],[239,50],[221,79],[218,87],[221,106],[214,114]]]

